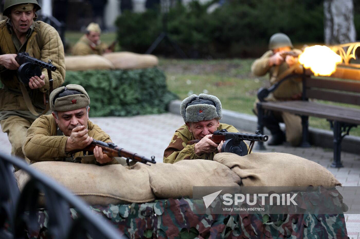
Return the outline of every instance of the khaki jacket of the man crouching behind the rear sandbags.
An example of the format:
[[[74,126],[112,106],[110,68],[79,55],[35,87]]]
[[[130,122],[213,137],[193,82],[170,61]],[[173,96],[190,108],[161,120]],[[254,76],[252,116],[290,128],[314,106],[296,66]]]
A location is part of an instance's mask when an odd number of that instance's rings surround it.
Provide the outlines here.
[[[72,55],[74,56],[84,56],[84,55],[103,55],[105,50],[108,48],[107,44],[100,43],[95,45],[89,39],[87,39],[86,35],[82,36],[80,40],[75,44],[72,48]]]

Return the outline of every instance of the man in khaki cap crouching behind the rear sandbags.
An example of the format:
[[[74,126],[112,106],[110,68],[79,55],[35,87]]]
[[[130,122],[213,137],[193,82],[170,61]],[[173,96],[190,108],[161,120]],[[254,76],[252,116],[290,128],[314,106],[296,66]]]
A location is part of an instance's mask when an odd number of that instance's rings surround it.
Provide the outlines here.
[[[90,23],[86,28],[86,34],[80,38],[72,49],[72,55],[103,55],[111,52],[108,46],[100,41],[101,29],[99,24]]]

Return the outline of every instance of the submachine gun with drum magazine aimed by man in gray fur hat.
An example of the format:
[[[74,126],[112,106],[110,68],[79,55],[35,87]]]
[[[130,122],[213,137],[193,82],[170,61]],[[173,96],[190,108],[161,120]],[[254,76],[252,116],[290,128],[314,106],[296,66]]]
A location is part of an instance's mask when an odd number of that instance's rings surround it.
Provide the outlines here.
[[[216,144],[220,144],[221,141],[224,141],[224,144],[221,147],[222,153],[233,153],[244,156],[251,153],[255,141],[266,142],[269,139],[269,136],[262,135],[260,130],[257,130],[255,135],[252,135],[249,133],[233,133],[222,129],[214,131],[210,139]],[[244,140],[250,141],[249,149]],[[188,144],[196,144],[199,141],[200,140],[190,140],[188,141]]]

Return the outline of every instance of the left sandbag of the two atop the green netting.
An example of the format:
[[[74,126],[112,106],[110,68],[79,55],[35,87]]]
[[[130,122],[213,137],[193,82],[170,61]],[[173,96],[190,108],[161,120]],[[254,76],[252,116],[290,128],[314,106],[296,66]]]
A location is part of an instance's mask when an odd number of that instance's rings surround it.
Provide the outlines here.
[[[115,69],[111,61],[99,55],[66,56],[65,67],[72,71]]]

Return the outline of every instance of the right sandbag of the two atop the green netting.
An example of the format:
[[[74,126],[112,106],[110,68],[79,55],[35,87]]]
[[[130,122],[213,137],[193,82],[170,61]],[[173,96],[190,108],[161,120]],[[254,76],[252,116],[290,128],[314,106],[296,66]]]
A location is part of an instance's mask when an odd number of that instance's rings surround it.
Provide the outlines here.
[[[115,69],[140,69],[157,66],[159,60],[154,55],[137,54],[133,52],[111,52],[103,55],[112,62]]]

